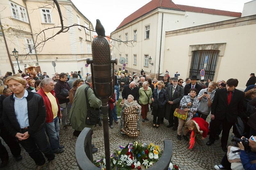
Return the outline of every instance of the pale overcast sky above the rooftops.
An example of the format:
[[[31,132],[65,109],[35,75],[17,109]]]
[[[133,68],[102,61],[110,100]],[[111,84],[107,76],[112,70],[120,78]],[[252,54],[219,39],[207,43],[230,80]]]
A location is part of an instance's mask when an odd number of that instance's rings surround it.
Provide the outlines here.
[[[138,10],[150,0],[71,0],[79,11],[88,18],[94,28],[96,19],[100,19],[106,35],[123,21],[124,18]],[[175,4],[212,8],[225,11],[242,12],[244,3],[251,0],[172,0]]]

